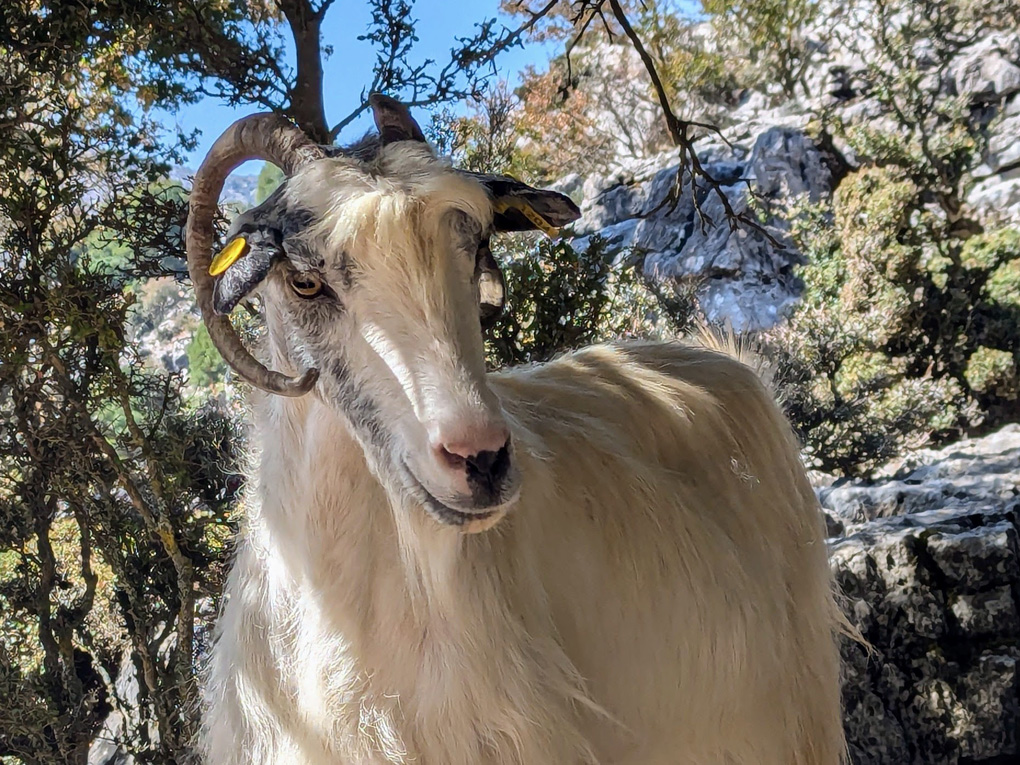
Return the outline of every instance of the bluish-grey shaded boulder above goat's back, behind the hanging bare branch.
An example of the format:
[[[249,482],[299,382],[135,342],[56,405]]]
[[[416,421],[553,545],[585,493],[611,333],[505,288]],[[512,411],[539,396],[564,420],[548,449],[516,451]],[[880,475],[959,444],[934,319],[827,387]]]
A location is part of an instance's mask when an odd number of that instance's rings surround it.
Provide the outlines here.
[[[715,147],[703,161],[737,214],[752,212],[751,189],[754,202],[773,213],[795,199],[818,202],[832,192],[831,157],[796,128],[773,126],[746,144]],[[771,214],[764,224],[769,236],[729,226],[719,194],[704,184],[695,190],[690,178],[667,203],[679,171],[667,162],[660,155],[589,178],[576,231],[644,255],[650,278],[698,284],[712,321],[728,321],[736,332],[773,326],[799,294],[800,256],[786,243],[785,224]],[[585,246],[586,237],[574,244]]]

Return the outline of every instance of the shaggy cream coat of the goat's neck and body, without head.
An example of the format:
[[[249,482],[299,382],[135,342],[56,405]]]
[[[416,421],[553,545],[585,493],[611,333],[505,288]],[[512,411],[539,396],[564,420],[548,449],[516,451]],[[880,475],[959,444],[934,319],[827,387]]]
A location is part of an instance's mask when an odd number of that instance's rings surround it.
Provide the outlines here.
[[[837,763],[823,529],[755,374],[639,344],[490,385],[523,488],[474,536],[317,399],[261,402],[209,762]]]

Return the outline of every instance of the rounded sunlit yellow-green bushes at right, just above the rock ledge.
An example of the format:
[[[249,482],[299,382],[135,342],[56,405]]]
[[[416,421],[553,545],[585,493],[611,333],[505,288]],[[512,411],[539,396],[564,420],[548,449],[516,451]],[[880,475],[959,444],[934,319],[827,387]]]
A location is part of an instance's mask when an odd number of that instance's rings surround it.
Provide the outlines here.
[[[924,199],[902,170],[867,167],[795,227],[804,302],[771,340],[821,469],[866,473],[1020,411],[1020,231],[944,238]]]

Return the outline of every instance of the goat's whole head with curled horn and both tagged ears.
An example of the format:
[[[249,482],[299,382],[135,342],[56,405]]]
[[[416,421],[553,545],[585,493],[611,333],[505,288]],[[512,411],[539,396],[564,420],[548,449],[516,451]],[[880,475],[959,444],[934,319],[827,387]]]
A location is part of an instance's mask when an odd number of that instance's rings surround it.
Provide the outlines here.
[[[481,323],[502,308],[495,231],[553,228],[566,197],[436,158],[400,103],[374,95],[378,137],[344,152],[274,115],[236,122],[195,176],[188,264],[209,334],[240,376],[283,396],[309,392],[346,418],[391,491],[438,520],[481,530],[519,489],[500,404],[484,374]],[[226,174],[260,158],[284,185],[233,223],[210,259]],[[263,301],[271,371],[227,315]]]

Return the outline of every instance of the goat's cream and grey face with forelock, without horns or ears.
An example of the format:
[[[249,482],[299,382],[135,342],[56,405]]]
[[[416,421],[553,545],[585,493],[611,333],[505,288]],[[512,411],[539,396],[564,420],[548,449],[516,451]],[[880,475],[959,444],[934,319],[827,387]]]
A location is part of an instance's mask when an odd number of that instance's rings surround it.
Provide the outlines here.
[[[294,232],[260,288],[274,345],[319,370],[317,394],[393,488],[446,522],[498,519],[519,481],[484,375],[486,191],[403,142],[369,166],[318,160],[273,204]]]

